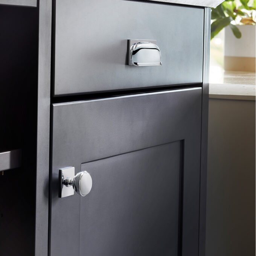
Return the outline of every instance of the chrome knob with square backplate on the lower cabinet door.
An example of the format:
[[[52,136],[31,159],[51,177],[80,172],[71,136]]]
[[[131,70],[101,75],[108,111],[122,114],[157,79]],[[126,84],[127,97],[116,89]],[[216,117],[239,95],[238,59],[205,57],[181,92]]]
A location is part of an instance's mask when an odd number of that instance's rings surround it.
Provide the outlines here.
[[[74,191],[85,197],[91,191],[92,179],[87,171],[78,172],[75,175],[75,167],[68,167],[60,169],[59,174],[61,185],[59,197],[74,195]]]

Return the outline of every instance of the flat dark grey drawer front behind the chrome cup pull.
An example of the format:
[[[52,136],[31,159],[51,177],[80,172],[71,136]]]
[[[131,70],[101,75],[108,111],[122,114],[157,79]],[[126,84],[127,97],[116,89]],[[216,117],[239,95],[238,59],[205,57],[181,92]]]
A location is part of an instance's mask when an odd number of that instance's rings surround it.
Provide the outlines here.
[[[202,82],[202,8],[56,0],[55,12],[56,96]],[[162,66],[129,66],[129,39],[157,40]]]

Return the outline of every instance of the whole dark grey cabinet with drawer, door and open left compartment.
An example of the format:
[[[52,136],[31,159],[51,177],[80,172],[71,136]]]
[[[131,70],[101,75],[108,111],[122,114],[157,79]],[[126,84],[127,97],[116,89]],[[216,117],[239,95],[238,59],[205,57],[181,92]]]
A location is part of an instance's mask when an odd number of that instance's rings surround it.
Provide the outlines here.
[[[0,0],[1,256],[205,255],[210,6],[184,2]]]

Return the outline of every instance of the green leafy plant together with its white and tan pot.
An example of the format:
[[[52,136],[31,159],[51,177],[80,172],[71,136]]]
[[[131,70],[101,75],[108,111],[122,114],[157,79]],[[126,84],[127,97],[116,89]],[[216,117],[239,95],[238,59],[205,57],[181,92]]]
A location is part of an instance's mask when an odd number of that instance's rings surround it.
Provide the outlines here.
[[[255,72],[255,21],[255,0],[225,0],[212,8],[211,39],[225,28],[225,70]]]

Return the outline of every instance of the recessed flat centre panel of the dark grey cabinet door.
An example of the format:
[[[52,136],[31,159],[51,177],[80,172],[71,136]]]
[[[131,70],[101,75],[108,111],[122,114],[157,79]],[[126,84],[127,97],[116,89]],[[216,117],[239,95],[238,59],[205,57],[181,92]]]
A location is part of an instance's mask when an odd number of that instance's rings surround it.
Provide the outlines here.
[[[181,142],[81,166],[80,256],[178,255]]]

